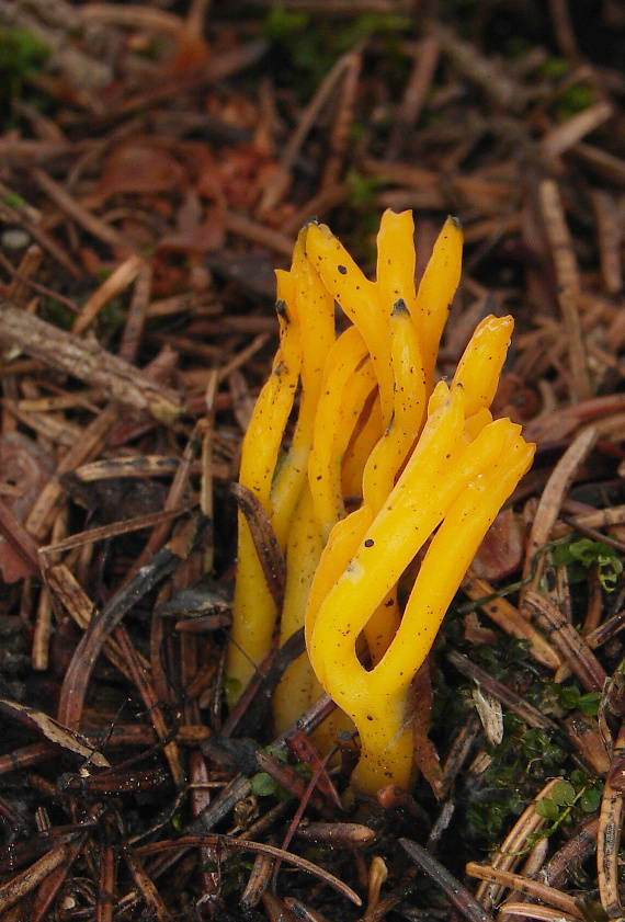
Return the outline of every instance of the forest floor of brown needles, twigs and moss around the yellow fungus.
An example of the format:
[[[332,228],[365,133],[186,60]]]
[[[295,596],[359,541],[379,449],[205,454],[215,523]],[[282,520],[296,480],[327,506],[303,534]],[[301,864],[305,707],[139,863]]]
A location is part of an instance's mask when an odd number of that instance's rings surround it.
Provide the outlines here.
[[[623,914],[624,47],[617,0],[0,2],[2,920]],[[273,270],[316,216],[371,276],[388,207],[418,275],[459,218],[439,371],[511,314],[537,453],[366,799],[224,652]]]

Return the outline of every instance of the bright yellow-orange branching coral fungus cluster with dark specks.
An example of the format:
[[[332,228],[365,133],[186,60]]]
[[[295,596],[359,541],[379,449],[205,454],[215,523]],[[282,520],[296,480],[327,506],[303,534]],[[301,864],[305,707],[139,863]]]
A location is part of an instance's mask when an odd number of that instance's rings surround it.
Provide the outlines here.
[[[327,227],[302,231],[291,271],[279,273],[281,345],[240,478],[286,557],[281,642],[305,626],[307,657],[275,696],[279,728],[322,686],[359,731],[352,781],[367,793],[410,783],[410,684],[534,452],[489,409],[512,318],[482,320],[451,385],[433,386],[461,273],[457,221],[445,223],[418,291],[411,214],[386,212],[377,242],[371,282]],[[338,337],[334,301],[351,321]],[[299,416],[276,473],[297,385]],[[398,581],[420,551],[400,613]],[[241,686],[269,652],[276,618],[241,515],[228,661]]]

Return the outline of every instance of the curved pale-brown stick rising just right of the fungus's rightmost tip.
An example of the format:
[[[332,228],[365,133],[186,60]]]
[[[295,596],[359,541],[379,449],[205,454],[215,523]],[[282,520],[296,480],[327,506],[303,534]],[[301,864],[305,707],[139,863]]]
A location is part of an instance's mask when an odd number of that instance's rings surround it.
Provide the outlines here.
[[[527,554],[523,566],[524,579],[530,576],[536,554],[549,540],[552,528],[556,523],[569,486],[579,466],[583,463],[587,455],[592,449],[595,441],[596,430],[590,426],[582,430],[554,467],[552,475],[545,485],[545,489],[543,490],[543,494],[534,516],[534,522],[532,524],[532,531],[530,532]],[[534,578],[521,590],[519,611],[523,615],[526,613],[525,595],[529,591],[535,590],[538,585],[542,570],[542,560],[538,560]]]

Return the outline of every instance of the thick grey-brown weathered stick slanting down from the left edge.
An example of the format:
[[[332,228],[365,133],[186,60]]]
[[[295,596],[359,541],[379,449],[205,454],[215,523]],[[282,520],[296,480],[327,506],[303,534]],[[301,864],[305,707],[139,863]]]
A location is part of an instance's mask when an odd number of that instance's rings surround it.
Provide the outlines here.
[[[182,412],[181,397],[174,390],[150,380],[98,343],[82,342],[5,301],[0,301],[0,342],[16,345],[46,365],[96,387],[111,400],[146,410],[160,422],[171,424]]]

